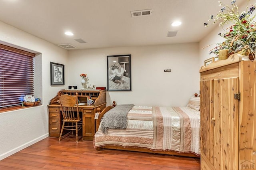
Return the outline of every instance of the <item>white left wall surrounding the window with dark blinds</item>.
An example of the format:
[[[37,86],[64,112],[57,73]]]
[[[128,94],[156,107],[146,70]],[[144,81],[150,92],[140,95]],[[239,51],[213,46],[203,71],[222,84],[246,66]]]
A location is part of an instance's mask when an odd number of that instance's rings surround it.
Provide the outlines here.
[[[21,49],[37,51],[36,92],[42,106],[0,113],[0,160],[35,142],[48,137],[47,105],[55,94],[65,86],[50,86],[50,61],[68,68],[68,52],[56,45],[36,38],[26,32],[0,22],[0,43]],[[65,67],[65,68],[66,68]],[[68,74],[65,77],[68,82]],[[65,83],[66,84],[66,83]]]

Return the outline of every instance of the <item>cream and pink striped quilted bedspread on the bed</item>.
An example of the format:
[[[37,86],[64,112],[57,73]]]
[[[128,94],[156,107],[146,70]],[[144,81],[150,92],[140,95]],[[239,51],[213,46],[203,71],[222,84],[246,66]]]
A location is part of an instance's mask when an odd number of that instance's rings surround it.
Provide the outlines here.
[[[134,106],[126,129],[99,127],[94,148],[106,145],[200,154],[200,112],[190,107]],[[100,125],[101,126],[101,125]]]

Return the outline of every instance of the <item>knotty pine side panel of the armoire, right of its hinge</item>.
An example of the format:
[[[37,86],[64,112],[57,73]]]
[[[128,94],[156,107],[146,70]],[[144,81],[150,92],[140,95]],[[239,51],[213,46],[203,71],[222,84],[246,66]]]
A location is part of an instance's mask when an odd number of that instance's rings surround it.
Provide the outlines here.
[[[241,66],[240,164],[249,161],[256,168],[256,62],[241,61]]]

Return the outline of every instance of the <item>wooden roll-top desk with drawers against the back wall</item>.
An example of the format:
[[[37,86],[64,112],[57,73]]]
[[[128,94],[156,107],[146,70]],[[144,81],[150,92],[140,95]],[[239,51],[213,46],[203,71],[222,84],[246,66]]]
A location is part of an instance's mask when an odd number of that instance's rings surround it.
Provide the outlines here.
[[[93,140],[96,132],[96,123],[94,120],[97,109],[103,110],[106,107],[106,90],[61,90],[62,95],[75,95],[78,93],[78,100],[80,103],[86,103],[86,105],[80,105],[79,112],[82,113],[83,119],[83,139]],[[94,104],[87,105],[87,97],[91,95]],[[62,113],[60,111],[60,104],[58,103],[58,93],[50,100],[48,105],[49,109],[49,136],[59,137],[62,127]]]

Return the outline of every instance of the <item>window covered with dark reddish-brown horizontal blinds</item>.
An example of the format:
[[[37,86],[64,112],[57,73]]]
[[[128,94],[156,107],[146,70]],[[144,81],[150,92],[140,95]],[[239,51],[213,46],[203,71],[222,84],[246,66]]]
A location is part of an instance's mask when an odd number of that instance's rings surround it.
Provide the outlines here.
[[[34,95],[34,53],[0,44],[0,109],[21,106]]]

